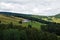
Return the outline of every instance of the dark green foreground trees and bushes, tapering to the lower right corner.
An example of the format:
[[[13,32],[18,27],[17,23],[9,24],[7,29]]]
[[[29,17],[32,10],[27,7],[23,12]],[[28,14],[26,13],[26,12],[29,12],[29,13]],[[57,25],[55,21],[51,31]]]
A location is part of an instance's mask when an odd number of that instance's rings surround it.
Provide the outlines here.
[[[59,40],[56,34],[22,25],[0,23],[0,40]]]

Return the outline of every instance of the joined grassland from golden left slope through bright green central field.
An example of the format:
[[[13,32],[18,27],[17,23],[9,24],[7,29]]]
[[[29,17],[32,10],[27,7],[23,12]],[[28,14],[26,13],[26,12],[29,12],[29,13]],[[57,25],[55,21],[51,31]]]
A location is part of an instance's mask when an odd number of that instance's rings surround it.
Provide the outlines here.
[[[18,18],[14,16],[6,16],[0,14],[0,21],[4,24],[13,23],[13,25],[22,25],[23,27],[28,27],[30,24],[32,27],[40,29],[41,23],[35,22],[35,21],[29,21],[29,22],[22,22],[22,24],[19,23],[19,21],[23,20],[23,18]]]

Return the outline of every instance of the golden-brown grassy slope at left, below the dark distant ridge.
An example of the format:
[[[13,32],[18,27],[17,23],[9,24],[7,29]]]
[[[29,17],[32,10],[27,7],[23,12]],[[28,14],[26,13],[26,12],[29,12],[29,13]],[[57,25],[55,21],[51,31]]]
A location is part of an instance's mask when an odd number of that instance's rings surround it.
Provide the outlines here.
[[[13,23],[17,23],[18,21],[20,21],[22,18],[17,18],[17,17],[7,17],[7,16],[4,16],[4,15],[0,15],[0,21],[2,21],[2,23],[10,23],[10,22],[13,22]]]

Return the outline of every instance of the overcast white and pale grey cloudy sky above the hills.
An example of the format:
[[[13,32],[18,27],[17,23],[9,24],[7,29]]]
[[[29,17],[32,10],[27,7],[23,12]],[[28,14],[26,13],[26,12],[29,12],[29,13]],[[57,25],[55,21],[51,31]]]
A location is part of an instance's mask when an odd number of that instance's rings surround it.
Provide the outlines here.
[[[60,13],[60,0],[0,0],[0,11],[55,15]]]

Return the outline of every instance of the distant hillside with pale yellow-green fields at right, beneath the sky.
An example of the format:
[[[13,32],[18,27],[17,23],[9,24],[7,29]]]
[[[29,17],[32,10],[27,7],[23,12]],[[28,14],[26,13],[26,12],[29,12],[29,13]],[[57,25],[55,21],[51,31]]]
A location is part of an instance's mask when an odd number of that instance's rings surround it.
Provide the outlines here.
[[[35,18],[38,18],[38,19],[42,19],[42,20],[46,20],[46,21],[50,21],[50,22],[60,23],[60,14],[57,14],[57,15],[54,15],[54,16],[33,15],[32,17],[35,17]]]

